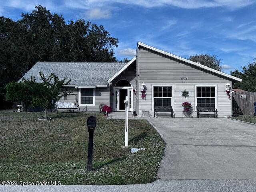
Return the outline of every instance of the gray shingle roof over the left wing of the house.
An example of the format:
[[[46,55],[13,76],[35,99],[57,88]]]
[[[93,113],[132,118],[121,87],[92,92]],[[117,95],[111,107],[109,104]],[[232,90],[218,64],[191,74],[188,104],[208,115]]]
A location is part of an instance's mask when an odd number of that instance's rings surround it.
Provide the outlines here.
[[[42,82],[41,71],[46,78],[51,73],[60,79],[71,78],[70,85],[99,86],[107,85],[107,81],[125,65],[123,62],[37,62],[23,77],[30,79],[30,76],[35,76],[37,82]]]

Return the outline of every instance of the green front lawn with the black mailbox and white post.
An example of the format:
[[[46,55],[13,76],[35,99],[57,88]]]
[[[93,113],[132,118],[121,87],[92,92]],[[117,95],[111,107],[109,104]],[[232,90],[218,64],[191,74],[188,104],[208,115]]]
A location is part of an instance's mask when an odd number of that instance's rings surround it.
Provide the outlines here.
[[[165,143],[146,120],[129,120],[129,148],[123,150],[124,120],[96,114],[93,170],[87,171],[90,113],[0,112],[0,182],[61,181],[61,184],[138,184],[154,181]],[[130,148],[146,148],[130,154]]]

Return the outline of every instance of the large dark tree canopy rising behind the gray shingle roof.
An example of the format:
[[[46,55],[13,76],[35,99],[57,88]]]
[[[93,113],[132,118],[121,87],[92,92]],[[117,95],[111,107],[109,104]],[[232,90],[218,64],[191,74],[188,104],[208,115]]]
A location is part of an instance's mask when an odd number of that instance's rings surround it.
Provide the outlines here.
[[[84,19],[66,23],[40,5],[17,21],[1,16],[0,102],[6,84],[18,81],[37,61],[115,62],[117,43],[102,25]]]

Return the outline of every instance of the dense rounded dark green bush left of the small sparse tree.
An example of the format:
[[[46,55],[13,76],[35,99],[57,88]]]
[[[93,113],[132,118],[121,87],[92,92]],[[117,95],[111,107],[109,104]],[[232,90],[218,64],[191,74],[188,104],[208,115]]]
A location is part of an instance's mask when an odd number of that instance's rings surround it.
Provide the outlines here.
[[[32,101],[34,94],[34,86],[36,82],[23,81],[23,82],[9,82],[6,85],[6,99],[11,102],[22,103],[23,111],[28,111],[28,106]]]

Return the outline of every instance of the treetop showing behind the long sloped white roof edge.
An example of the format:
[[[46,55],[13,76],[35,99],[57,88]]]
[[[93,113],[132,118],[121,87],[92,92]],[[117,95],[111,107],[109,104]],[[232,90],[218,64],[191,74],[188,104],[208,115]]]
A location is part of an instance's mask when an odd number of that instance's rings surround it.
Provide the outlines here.
[[[200,54],[195,56],[190,56],[188,60],[194,62],[200,62],[200,64],[210,67],[212,69],[222,71],[221,60],[215,55],[210,54]]]

